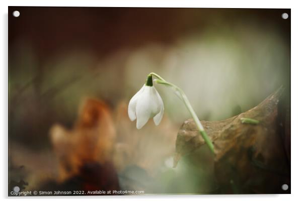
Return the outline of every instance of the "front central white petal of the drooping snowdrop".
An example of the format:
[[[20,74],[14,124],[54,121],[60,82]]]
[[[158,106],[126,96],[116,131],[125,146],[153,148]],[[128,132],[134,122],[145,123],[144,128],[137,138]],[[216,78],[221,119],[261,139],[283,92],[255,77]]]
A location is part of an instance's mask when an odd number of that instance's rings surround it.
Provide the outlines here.
[[[141,129],[149,118],[154,117],[160,112],[160,106],[157,104],[157,94],[155,87],[145,86],[139,95],[136,104],[137,129]]]

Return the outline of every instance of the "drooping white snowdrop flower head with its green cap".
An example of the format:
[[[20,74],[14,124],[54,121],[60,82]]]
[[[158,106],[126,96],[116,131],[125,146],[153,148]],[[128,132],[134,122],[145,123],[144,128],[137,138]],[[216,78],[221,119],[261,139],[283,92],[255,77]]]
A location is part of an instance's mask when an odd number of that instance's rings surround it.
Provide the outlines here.
[[[146,83],[130,99],[128,116],[131,121],[137,119],[136,127],[141,129],[150,118],[158,126],[164,114],[164,105],[157,89],[153,86],[152,75],[149,75]]]

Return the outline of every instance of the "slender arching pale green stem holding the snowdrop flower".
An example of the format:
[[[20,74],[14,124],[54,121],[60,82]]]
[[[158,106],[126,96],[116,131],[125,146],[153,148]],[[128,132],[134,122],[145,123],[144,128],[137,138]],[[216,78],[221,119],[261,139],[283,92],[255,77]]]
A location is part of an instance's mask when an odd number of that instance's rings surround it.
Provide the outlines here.
[[[171,87],[174,88],[174,90],[175,90],[177,93],[179,93],[178,95],[179,95],[180,98],[183,100],[185,106],[187,107],[189,113],[191,114],[191,116],[192,116],[192,118],[193,118],[193,120],[194,120],[194,122],[195,122],[195,124],[196,124],[196,126],[197,126],[197,128],[198,128],[198,130],[199,130],[199,132],[200,132],[200,134],[201,134],[201,136],[202,136],[202,138],[205,140],[205,143],[206,143],[207,146],[209,147],[210,151],[211,151],[212,153],[214,153],[213,144],[212,144],[212,142],[209,140],[209,137],[208,137],[206,131],[204,130],[204,128],[203,128],[203,126],[202,126],[200,120],[198,119],[198,117],[197,117],[195,111],[193,110],[193,108],[192,108],[191,104],[189,103],[189,100],[188,100],[187,96],[185,95],[185,93],[183,92],[183,90],[180,89],[178,86],[174,85],[173,83],[170,83],[170,82],[166,81],[165,79],[163,79],[160,75],[158,75],[158,74],[156,74],[156,73],[153,73],[153,72],[152,72],[152,73],[149,73],[148,77],[149,77],[150,75],[153,75],[153,76],[159,78],[159,79],[155,80],[156,83],[165,84],[165,85],[171,86]]]

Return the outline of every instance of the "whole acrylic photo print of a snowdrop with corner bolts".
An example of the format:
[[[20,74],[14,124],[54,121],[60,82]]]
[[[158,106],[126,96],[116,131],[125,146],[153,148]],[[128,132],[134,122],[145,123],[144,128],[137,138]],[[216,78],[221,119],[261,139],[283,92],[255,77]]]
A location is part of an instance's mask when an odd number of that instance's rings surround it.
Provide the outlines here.
[[[9,196],[290,193],[290,9],[8,19]]]

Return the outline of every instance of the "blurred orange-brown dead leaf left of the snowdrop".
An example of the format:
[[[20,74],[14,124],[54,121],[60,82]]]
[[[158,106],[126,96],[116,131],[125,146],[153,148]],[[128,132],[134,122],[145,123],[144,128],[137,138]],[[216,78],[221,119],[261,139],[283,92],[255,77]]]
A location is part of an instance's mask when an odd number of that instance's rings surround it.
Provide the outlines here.
[[[78,174],[86,163],[110,161],[116,136],[108,106],[92,98],[85,100],[71,130],[55,124],[50,135],[60,181]]]

